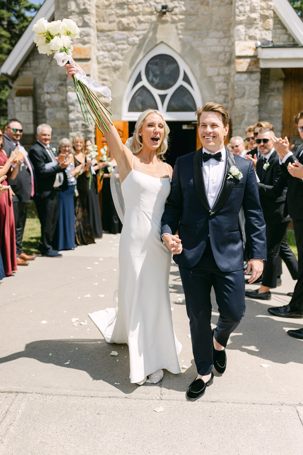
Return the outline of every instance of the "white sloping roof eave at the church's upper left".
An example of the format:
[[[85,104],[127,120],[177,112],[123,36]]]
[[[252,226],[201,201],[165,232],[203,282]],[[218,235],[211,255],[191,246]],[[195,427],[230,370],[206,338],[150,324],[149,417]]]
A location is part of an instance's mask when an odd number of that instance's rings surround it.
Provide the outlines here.
[[[25,61],[26,57],[30,54],[34,43],[35,33],[32,30],[32,26],[37,22],[41,17],[45,17],[46,20],[51,20],[55,12],[55,1],[54,0],[45,0],[44,4],[40,6],[40,9],[37,11],[35,17],[31,20],[27,29],[21,36],[20,40],[14,46],[10,55],[7,57],[5,62],[0,68],[0,74],[5,74],[6,76],[15,76],[19,70],[22,63]]]

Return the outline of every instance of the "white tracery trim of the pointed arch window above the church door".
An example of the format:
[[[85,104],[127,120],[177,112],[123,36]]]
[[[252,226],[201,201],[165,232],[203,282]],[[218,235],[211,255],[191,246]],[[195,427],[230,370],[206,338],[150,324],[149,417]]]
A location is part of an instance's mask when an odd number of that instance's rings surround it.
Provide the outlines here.
[[[179,73],[179,78],[178,81],[174,84],[173,87],[169,88],[168,90],[158,90],[154,89],[149,82],[146,79],[145,76],[145,66],[147,62],[154,56],[159,55],[159,54],[167,54],[169,56],[172,56],[178,63],[179,68],[180,68],[180,73]],[[192,87],[183,81],[183,72],[186,72],[189,81],[192,84]],[[139,72],[141,72],[141,81],[134,87],[134,81],[136,80]],[[190,120],[196,120],[196,117],[194,115],[194,112],[167,112],[167,106],[170,100],[171,95],[174,93],[177,88],[183,85],[189,93],[193,96],[194,101],[196,103],[196,106],[202,106],[202,98],[201,98],[201,93],[199,90],[199,86],[197,84],[197,81],[194,77],[194,74],[192,73],[191,69],[187,65],[187,63],[183,60],[181,56],[177,52],[175,52],[171,47],[164,43],[160,43],[157,46],[154,47],[151,51],[146,54],[143,59],[139,62],[139,64],[136,66],[136,68],[133,71],[133,74],[131,75],[129,79],[129,83],[127,85],[125,94],[124,94],[124,99],[122,103],[122,120],[123,121],[136,121],[141,114],[141,112],[129,112],[129,103],[130,100],[132,99],[134,93],[141,87],[144,86],[146,87],[151,94],[154,96],[154,99],[156,100],[156,103],[158,104],[158,110],[161,112],[161,114],[164,117],[164,120],[166,121],[190,121]],[[160,94],[167,94],[164,104],[162,106],[162,102],[159,98]]]

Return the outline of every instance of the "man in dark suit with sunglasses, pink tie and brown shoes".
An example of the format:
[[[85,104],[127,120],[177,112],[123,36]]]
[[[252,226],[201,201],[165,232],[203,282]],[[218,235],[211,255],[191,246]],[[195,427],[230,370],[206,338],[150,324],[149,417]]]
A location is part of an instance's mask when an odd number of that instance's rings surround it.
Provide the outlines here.
[[[9,157],[11,152],[19,146],[19,152],[24,153],[24,162],[14,180],[9,179],[13,192],[13,208],[15,217],[17,265],[28,265],[28,261],[35,259],[35,254],[25,254],[23,251],[22,238],[26,222],[26,202],[34,196],[34,171],[30,158],[20,144],[23,129],[19,120],[12,118],[4,127],[4,150]]]

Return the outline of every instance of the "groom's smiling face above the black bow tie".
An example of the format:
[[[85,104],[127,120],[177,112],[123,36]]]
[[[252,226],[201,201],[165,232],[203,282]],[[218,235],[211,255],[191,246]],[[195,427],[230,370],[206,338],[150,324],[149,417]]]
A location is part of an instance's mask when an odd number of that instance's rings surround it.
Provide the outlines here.
[[[199,124],[199,138],[203,147],[209,152],[219,152],[224,147],[224,138],[228,133],[228,125],[224,127],[219,112],[202,112]]]

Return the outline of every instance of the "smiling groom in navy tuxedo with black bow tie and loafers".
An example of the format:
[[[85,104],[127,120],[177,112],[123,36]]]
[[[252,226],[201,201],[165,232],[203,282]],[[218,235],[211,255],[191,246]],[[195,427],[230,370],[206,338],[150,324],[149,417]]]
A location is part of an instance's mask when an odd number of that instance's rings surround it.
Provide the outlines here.
[[[251,258],[249,283],[263,271],[266,259],[265,222],[259,203],[252,162],[224,147],[229,115],[224,106],[207,103],[196,111],[203,148],[177,158],[161,235],[174,253],[182,239],[183,251],[174,254],[185,294],[194,361],[198,377],[187,390],[194,401],[226,368],[229,335],[245,311],[243,243],[238,214],[243,207]],[[179,229],[179,237],[175,233]],[[219,308],[212,331],[210,291],[214,286]]]

